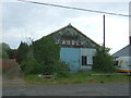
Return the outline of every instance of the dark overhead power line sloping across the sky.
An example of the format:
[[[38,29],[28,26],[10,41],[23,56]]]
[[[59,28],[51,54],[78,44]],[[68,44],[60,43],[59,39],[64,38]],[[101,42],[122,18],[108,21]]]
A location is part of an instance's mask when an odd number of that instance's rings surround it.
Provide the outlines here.
[[[19,0],[19,1],[29,2],[29,3],[35,3],[35,4],[44,4],[44,5],[49,5],[49,7],[72,9],[72,10],[79,10],[79,11],[96,12],[96,13],[104,13],[104,14],[110,14],[110,15],[120,15],[120,16],[128,16],[128,17],[131,17],[131,15],[127,15],[127,14],[118,14],[118,13],[110,13],[110,12],[104,12],[104,11],[87,10],[87,9],[82,9],[82,8],[74,8],[74,7],[67,7],[67,5],[44,3],[44,2],[25,1],[25,0]]]

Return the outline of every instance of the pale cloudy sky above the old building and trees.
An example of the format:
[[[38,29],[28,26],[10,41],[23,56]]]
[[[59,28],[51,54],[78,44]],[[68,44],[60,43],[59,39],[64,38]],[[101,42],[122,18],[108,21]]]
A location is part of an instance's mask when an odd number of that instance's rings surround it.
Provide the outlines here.
[[[33,0],[29,0],[33,1]],[[35,0],[37,1],[37,0]],[[47,2],[47,0],[43,0]],[[48,3],[111,13],[129,14],[129,2],[49,1]],[[1,9],[1,8],[0,8]],[[95,42],[103,45],[102,13],[75,11],[28,2],[2,2],[0,42],[16,49],[21,41],[28,42],[67,26],[69,23]],[[115,53],[129,45],[129,17],[105,14],[106,47]],[[1,24],[0,24],[1,25]]]

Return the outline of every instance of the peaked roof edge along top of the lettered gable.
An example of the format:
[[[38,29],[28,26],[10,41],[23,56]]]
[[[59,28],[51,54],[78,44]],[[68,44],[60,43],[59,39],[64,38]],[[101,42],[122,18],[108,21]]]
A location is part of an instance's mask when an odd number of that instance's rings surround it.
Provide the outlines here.
[[[92,40],[90,37],[87,37],[86,35],[84,35],[82,32],[80,32],[78,28],[75,28],[74,26],[72,26],[71,24],[58,29],[58,30],[55,30],[53,33],[49,34],[48,36],[52,36],[52,35],[56,35],[58,33],[62,33],[64,29],[71,29],[73,28],[75,32],[78,32],[80,35],[82,35],[83,37],[85,37],[86,39],[88,39],[90,41],[92,41],[94,45],[96,45],[97,47],[99,47],[98,44],[96,44],[94,40]]]

